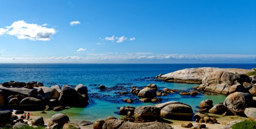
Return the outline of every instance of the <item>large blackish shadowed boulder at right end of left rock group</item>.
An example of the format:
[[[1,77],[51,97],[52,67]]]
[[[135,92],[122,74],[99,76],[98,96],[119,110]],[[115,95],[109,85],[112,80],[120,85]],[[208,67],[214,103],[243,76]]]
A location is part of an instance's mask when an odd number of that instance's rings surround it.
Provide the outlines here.
[[[88,98],[78,93],[74,88],[65,85],[62,87],[59,103],[63,106],[82,107],[88,104]]]

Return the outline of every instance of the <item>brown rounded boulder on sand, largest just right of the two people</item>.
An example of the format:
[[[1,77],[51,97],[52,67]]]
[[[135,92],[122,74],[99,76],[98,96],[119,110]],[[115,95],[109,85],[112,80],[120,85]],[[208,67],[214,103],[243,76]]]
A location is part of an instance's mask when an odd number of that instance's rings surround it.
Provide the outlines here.
[[[67,115],[65,114],[55,114],[51,117],[49,123],[48,123],[48,126],[52,126],[56,123],[58,123],[61,127],[65,124],[65,123],[68,123],[69,121],[69,118]]]

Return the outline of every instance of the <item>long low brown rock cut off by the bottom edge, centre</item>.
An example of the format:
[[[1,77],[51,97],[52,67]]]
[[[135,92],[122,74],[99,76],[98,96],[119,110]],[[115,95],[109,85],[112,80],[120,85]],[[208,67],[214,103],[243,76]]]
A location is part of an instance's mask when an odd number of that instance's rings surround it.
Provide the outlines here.
[[[123,120],[108,120],[102,129],[173,129],[173,127],[160,122],[132,123]]]

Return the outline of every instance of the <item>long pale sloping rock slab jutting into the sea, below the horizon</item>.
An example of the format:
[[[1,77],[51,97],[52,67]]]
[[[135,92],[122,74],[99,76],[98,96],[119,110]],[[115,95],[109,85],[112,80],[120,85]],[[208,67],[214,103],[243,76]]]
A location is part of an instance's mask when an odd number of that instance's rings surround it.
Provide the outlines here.
[[[209,74],[213,72],[218,72],[218,71],[227,71],[230,73],[238,73],[238,74],[246,74],[249,71],[252,70],[246,70],[246,69],[238,69],[238,68],[210,68],[210,67],[204,67],[204,68],[187,68],[179,71],[175,71],[169,74],[157,76],[158,79],[165,80],[168,82],[181,82],[181,83],[202,83],[202,80],[204,77],[208,76]],[[209,83],[214,83],[217,80],[217,78],[220,78],[222,72],[216,75],[216,79],[214,77],[211,77],[209,80]],[[223,76],[222,81],[228,82],[226,80],[227,77],[226,75]],[[232,77],[230,79],[233,79]],[[227,83],[228,84],[228,83]],[[210,84],[209,84],[210,85]]]

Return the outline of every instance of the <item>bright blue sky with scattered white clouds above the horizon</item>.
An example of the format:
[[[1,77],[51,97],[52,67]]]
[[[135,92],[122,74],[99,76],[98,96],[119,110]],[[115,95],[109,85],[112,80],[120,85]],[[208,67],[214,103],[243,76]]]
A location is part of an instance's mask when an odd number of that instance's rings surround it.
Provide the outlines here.
[[[0,63],[256,63],[256,1],[0,0]]]

